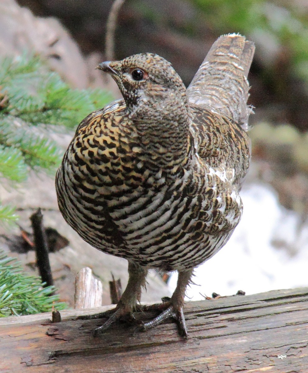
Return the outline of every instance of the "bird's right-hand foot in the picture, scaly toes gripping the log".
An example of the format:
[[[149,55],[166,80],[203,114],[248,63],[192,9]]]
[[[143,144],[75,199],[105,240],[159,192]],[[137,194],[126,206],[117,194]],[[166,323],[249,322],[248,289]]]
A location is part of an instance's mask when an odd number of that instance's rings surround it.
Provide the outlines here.
[[[185,317],[183,313],[183,306],[176,306],[172,303],[172,301],[164,301],[160,304],[153,304],[150,306],[147,306],[147,310],[163,310],[158,316],[156,316],[153,320],[142,323],[142,325],[138,326],[138,330],[141,332],[146,332],[147,330],[152,329],[153,327],[161,324],[165,320],[167,320],[169,317],[172,317],[176,320],[178,327],[179,327],[179,333],[184,338],[188,337],[188,332],[186,329],[186,323],[185,323]]]

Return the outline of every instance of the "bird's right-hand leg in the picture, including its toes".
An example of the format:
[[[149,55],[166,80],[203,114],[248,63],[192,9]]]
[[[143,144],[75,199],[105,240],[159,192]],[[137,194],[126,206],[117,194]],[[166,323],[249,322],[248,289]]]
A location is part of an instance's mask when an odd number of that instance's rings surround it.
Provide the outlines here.
[[[180,334],[187,338],[188,333],[185,324],[183,306],[186,286],[188,285],[189,280],[191,279],[192,272],[193,269],[179,271],[179,278],[177,279],[176,289],[170,301],[162,304],[165,305],[166,309],[157,317],[155,317],[155,319],[147,323],[144,323],[140,328],[142,331],[145,332],[146,330],[152,329],[153,327],[159,325],[171,316],[177,320]]]

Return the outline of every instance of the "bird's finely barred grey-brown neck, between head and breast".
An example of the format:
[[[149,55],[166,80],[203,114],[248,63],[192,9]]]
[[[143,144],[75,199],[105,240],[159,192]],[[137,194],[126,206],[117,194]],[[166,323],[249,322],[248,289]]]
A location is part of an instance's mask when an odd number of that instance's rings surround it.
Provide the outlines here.
[[[129,116],[135,124],[145,156],[159,168],[174,169],[185,162],[187,155],[186,95],[155,100],[152,104],[144,100],[130,108]]]

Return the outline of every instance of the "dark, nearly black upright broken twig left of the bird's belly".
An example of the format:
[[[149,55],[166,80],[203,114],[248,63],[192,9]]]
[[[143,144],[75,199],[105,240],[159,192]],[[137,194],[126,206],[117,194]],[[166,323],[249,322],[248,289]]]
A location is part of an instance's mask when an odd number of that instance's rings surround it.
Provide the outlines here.
[[[48,257],[48,244],[43,225],[43,215],[40,208],[37,210],[37,212],[30,216],[30,220],[34,235],[38,271],[40,273],[42,282],[46,283],[45,286],[51,286],[53,285],[53,277],[51,274]]]

